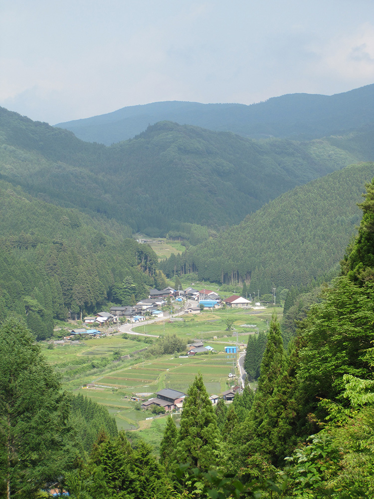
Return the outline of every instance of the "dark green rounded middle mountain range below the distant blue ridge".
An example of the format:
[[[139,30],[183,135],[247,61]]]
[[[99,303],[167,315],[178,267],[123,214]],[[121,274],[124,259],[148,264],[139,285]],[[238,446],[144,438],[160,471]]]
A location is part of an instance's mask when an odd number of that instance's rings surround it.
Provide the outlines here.
[[[293,187],[373,159],[370,128],[311,142],[255,141],[162,122],[105,147],[0,109],[0,175],[33,197],[165,236],[239,223]]]

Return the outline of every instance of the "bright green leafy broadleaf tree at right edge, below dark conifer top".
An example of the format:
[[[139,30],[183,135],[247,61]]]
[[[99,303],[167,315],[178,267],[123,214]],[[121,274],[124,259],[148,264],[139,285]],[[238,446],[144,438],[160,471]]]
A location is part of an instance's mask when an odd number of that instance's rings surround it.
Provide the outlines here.
[[[340,397],[345,374],[364,379],[372,375],[367,351],[374,340],[373,299],[373,287],[358,287],[343,276],[311,308],[299,373],[314,396]]]

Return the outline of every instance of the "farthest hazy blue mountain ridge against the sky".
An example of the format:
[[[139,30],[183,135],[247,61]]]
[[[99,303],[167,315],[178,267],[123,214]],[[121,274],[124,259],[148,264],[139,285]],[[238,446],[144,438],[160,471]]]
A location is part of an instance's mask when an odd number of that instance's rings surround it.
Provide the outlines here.
[[[71,130],[82,140],[110,145],[130,139],[159,121],[230,131],[256,139],[310,140],[340,135],[374,123],[374,84],[331,96],[287,94],[249,106],[154,102],[56,126]]]

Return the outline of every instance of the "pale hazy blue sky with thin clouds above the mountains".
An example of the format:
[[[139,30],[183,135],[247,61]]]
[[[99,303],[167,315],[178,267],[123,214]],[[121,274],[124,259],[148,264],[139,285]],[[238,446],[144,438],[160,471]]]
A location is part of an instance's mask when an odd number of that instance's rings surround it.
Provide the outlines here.
[[[0,106],[50,124],[371,83],[373,0],[0,2]]]

